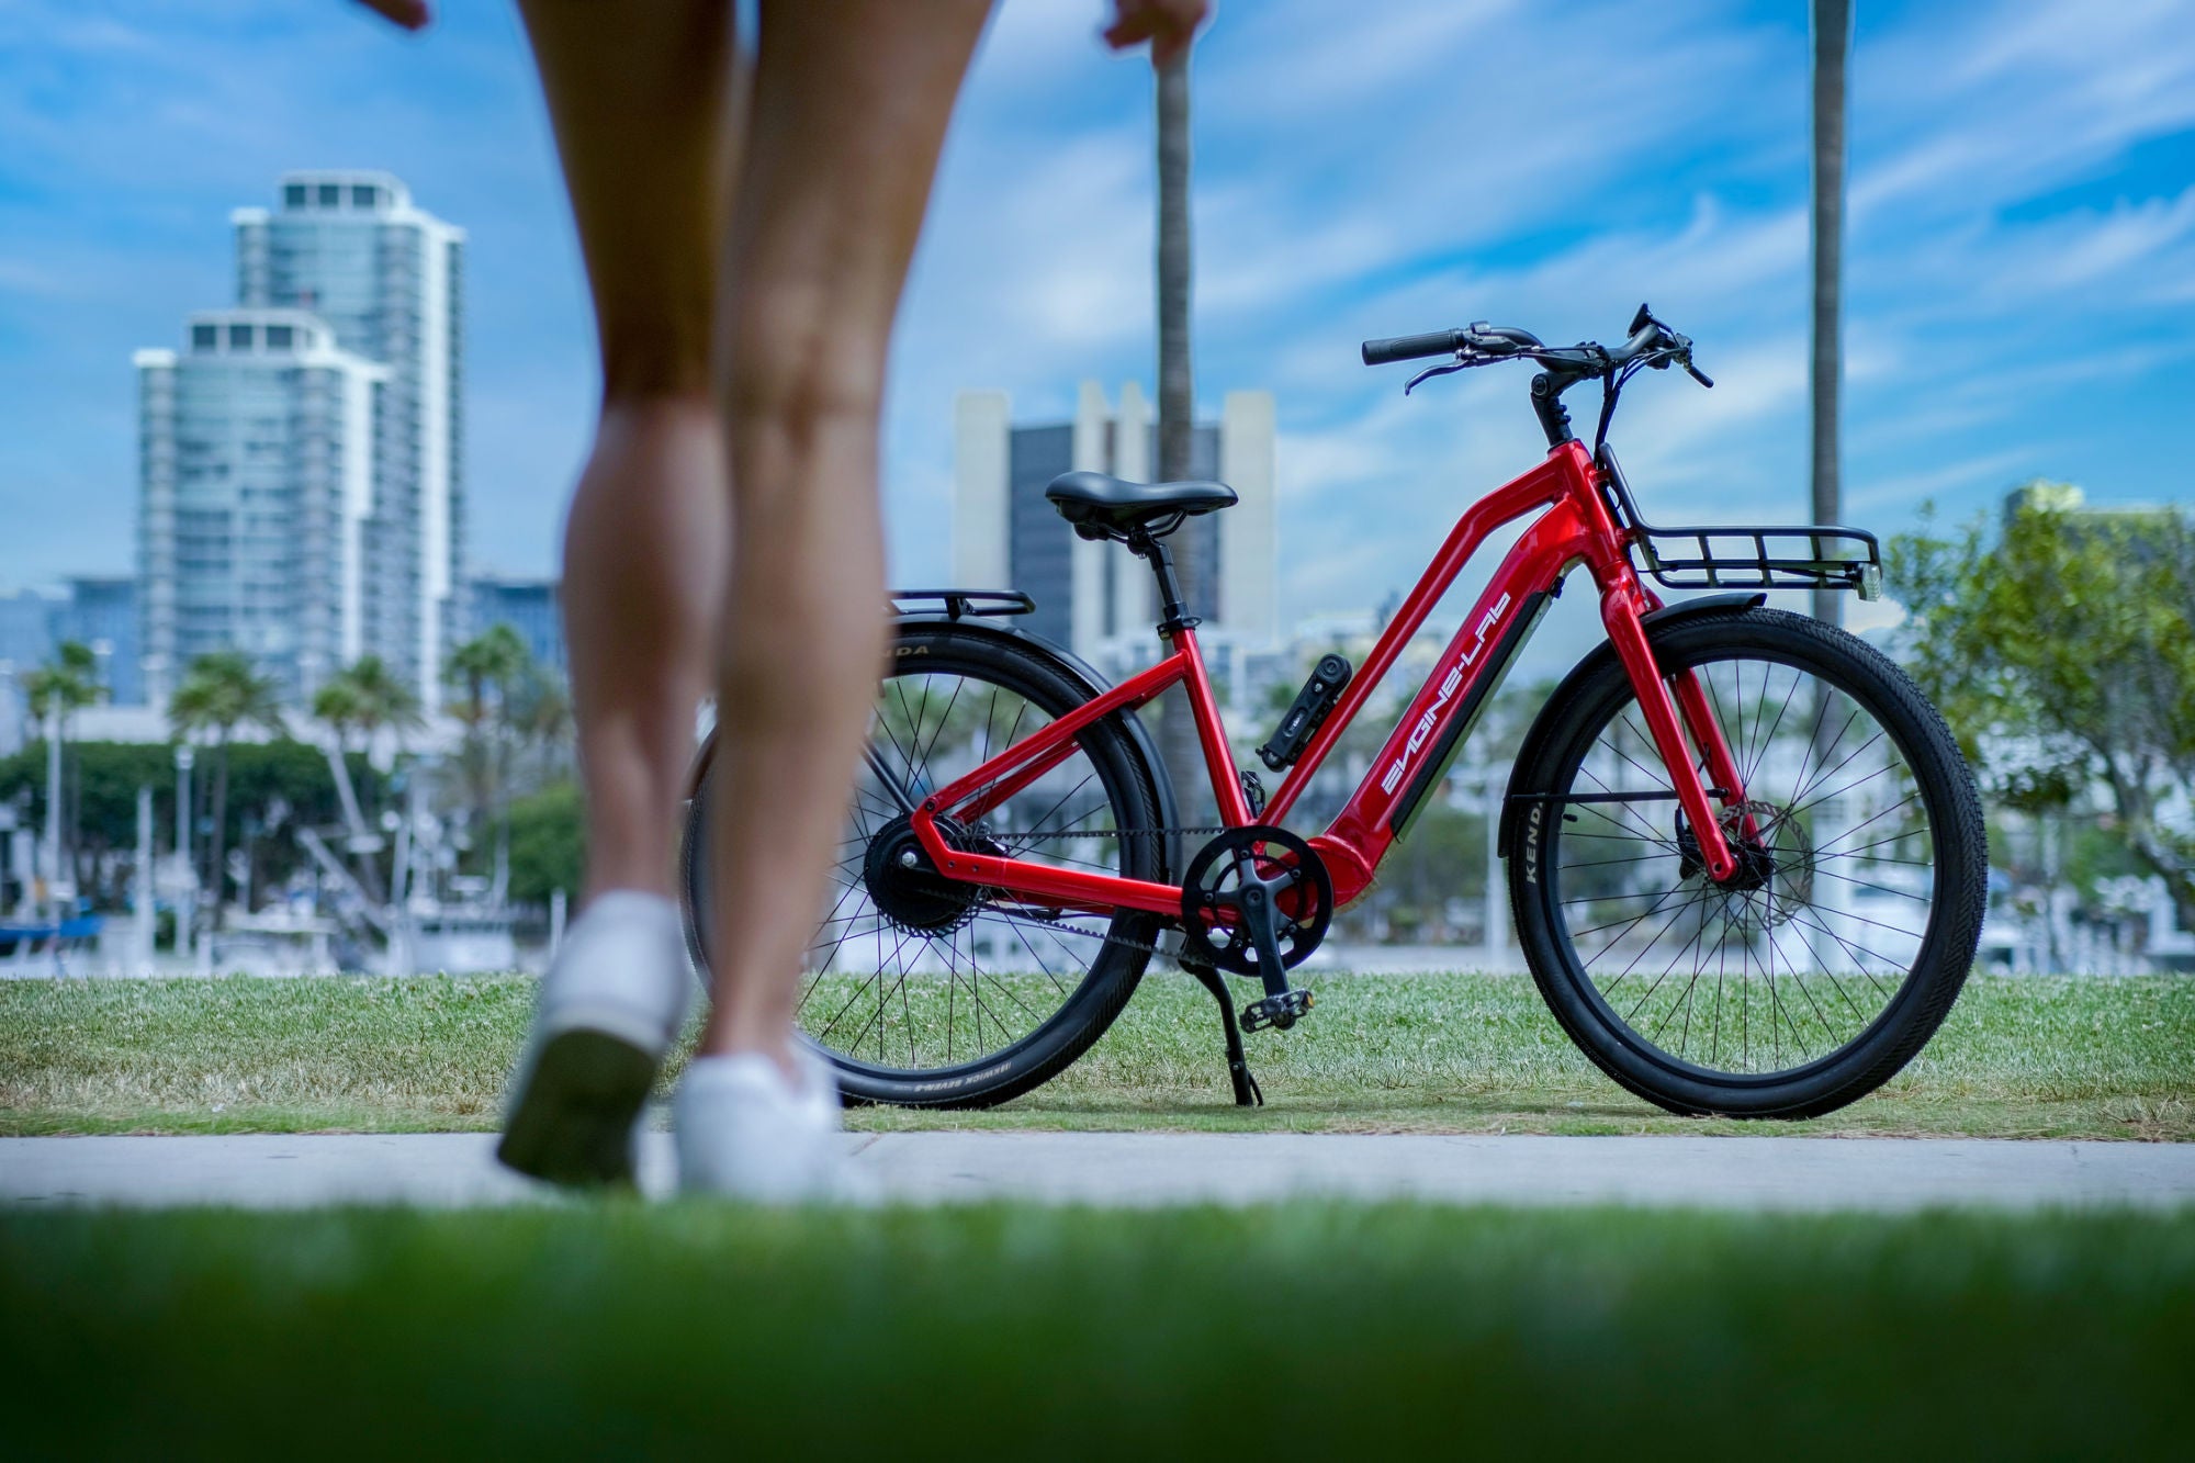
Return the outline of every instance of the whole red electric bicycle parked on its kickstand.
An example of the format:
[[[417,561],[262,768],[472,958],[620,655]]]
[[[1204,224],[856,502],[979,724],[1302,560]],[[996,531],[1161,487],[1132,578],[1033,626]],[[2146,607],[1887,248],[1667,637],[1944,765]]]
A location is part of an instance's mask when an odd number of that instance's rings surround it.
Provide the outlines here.
[[[1227,507],[1220,483],[1069,472],[1047,499],[1082,538],[1150,562],[1166,659],[1104,688],[1001,615],[1025,595],[896,595],[898,626],[799,1024],[854,1101],[988,1105],[1076,1061],[1170,953],[1218,997],[1236,1098],[1260,1101],[1242,1030],[1288,1028],[1288,971],[1361,896],[1565,576],[1585,567],[1607,641],[1539,712],[1499,850],[1517,936],[1563,1030],[1618,1083],[1681,1114],[1809,1116],[1872,1092],[1943,1021],[1980,938],[1986,846],[1943,718],[1868,644],[1763,608],[1769,589],[1872,598],[1881,554],[1846,527],[1655,527],[1609,420],[1624,384],[1692,343],[1642,305],[1618,347],[1471,325],[1367,340],[1411,378],[1532,360],[1547,457],[1473,503],[1361,670],[1330,655],[1238,773],[1166,536]],[[1563,393],[1602,384],[1594,446]],[[1473,551],[1532,516],[1324,833],[1288,830],[1343,729]],[[1642,576],[1701,598],[1664,604]],[[1218,826],[1183,828],[1137,707],[1181,685]],[[687,824],[694,951],[709,945],[707,749]],[[1187,857],[1183,857],[1183,850]],[[1260,995],[1236,1019],[1225,978]]]

